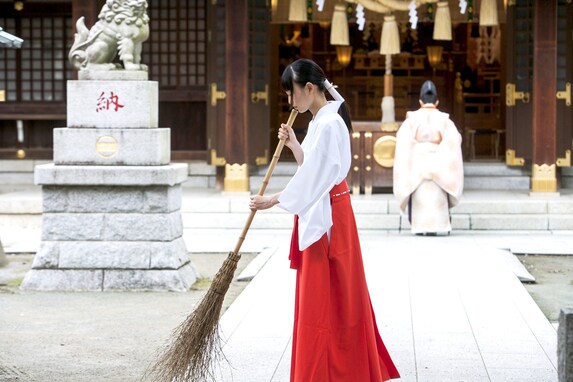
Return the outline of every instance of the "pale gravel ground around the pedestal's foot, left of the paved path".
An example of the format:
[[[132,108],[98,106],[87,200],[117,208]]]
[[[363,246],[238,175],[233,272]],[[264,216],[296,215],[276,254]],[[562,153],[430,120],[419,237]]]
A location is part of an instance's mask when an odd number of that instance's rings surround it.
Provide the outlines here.
[[[186,293],[24,292],[33,255],[0,268],[0,381],[147,381],[145,370],[192,312],[227,254],[192,254]],[[243,254],[236,275],[254,258]],[[247,285],[233,282],[226,309]]]

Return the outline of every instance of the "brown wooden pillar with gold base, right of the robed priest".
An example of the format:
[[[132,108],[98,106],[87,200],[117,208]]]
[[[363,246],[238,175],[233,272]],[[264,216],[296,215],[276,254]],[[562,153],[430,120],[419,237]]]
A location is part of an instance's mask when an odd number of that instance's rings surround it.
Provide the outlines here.
[[[557,2],[535,0],[532,192],[556,192]]]

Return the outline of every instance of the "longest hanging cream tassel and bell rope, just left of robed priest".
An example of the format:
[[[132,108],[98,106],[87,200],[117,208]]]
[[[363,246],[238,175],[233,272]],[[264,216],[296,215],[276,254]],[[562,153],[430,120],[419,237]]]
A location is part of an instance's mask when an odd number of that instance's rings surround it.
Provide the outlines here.
[[[380,54],[386,57],[386,73],[384,74],[384,97],[382,98],[382,124],[395,123],[392,76],[392,55],[400,53],[400,31],[394,15],[384,16],[382,36],[380,37]]]

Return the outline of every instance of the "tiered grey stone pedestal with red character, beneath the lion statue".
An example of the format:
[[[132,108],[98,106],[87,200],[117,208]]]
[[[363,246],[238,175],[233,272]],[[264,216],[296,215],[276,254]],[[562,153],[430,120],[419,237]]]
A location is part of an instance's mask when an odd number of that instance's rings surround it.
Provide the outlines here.
[[[101,104],[106,92],[118,99]],[[70,81],[68,123],[54,129],[54,163],[35,170],[42,243],[22,288],[187,290],[188,170],[170,164],[170,130],[157,128],[157,83]]]

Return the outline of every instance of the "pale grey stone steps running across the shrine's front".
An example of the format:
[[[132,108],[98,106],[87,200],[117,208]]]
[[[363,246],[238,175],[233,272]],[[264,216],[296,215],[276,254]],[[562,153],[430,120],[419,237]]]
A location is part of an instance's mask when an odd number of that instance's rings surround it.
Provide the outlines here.
[[[0,189],[0,227],[39,228],[42,223],[42,194],[31,185],[36,165],[46,161],[0,161],[2,177],[13,177]],[[282,189],[296,171],[295,163],[279,163],[267,193]],[[266,167],[252,169],[251,189],[257,192]],[[572,230],[573,191],[561,189],[560,197],[529,194],[529,174],[504,163],[474,163],[464,166],[465,191],[461,203],[452,209],[456,230]],[[570,169],[562,169],[571,175]],[[186,228],[241,229],[249,214],[248,193],[229,194],[216,190],[217,169],[205,162],[189,164],[189,178],[183,184],[182,216]],[[28,183],[20,183],[25,179]],[[495,190],[501,191],[495,191]],[[408,228],[400,217],[391,193],[353,195],[356,219],[361,229],[398,230]],[[256,229],[290,229],[292,216],[280,209],[261,211],[253,221]]]

